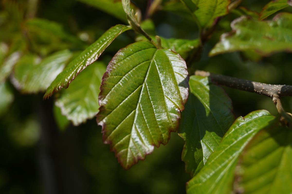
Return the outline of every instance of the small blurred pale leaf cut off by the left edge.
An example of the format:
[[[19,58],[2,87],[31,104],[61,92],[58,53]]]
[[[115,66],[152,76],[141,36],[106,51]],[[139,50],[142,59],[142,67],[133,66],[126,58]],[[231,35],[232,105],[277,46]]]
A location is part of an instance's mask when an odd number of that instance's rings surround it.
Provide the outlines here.
[[[21,57],[21,52],[16,51],[10,54],[3,63],[0,64],[0,83],[4,82],[13,70],[14,65]]]

